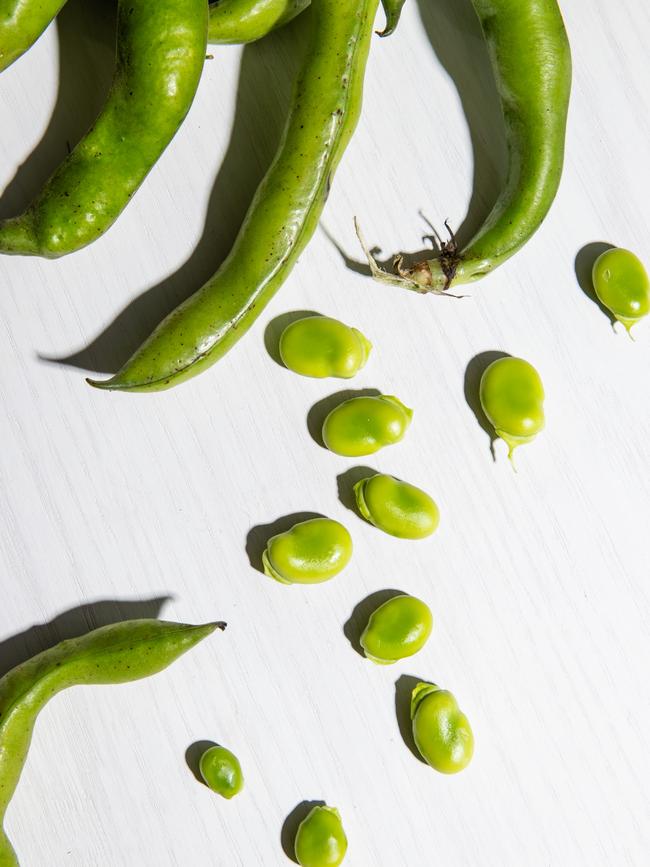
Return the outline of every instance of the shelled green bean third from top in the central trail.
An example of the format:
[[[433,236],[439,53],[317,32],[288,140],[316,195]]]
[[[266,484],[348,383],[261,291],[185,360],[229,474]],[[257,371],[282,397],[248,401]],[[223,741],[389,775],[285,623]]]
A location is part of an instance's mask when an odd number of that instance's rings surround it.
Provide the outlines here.
[[[354,486],[357,507],[366,521],[399,539],[425,539],[440,523],[438,506],[415,485],[379,473]]]

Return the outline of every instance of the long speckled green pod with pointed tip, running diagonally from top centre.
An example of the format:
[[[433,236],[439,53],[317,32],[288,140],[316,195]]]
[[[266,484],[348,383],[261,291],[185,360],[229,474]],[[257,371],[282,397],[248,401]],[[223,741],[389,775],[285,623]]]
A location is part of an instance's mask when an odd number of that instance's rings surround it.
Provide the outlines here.
[[[378,0],[314,0],[278,153],[214,277],[99,388],[159,391],[210,367],[250,328],[311,238],[356,126]]]

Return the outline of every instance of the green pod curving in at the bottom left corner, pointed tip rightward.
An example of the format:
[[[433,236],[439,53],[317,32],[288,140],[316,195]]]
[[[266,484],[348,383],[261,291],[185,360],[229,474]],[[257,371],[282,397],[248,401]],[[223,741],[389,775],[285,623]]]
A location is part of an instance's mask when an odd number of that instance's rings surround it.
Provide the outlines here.
[[[0,867],[18,860],[2,827],[45,704],[78,684],[127,683],[156,674],[224,623],[127,620],[62,641],[0,679]]]

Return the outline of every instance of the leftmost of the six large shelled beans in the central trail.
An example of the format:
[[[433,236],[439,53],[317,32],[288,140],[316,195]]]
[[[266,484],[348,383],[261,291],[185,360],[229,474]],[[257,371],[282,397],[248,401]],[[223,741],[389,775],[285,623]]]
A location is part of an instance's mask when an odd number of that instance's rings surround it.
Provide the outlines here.
[[[311,518],[272,536],[262,554],[264,574],[281,584],[320,584],[352,556],[352,538],[338,521]]]

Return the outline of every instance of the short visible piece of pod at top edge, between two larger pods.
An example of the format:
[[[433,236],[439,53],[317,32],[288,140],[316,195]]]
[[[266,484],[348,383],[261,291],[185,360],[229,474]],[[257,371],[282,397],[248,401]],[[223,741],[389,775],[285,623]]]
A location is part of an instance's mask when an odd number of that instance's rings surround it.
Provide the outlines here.
[[[311,0],[218,0],[210,4],[208,42],[239,45],[255,42],[287,24]]]

